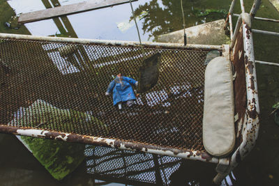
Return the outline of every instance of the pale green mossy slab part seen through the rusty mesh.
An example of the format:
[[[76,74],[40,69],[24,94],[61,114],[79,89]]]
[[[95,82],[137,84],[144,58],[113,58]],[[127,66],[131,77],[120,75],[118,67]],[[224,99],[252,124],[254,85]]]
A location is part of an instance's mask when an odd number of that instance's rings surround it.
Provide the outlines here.
[[[21,125],[56,132],[94,134],[108,133],[107,125],[98,118],[74,109],[59,109],[44,100],[36,100],[21,110],[22,116],[15,118],[9,125]]]

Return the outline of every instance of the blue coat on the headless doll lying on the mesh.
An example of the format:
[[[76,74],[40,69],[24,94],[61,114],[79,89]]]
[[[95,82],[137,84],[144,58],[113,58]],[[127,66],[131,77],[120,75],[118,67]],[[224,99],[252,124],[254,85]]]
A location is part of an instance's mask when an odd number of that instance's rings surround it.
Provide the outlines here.
[[[122,79],[122,80],[121,80]],[[131,86],[135,85],[137,81],[130,77],[116,77],[110,85],[107,87],[107,93],[111,93],[113,90],[113,102],[114,105],[119,102],[126,102],[128,100],[135,100],[135,93]]]

